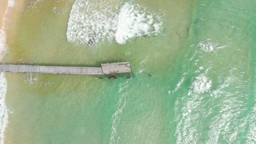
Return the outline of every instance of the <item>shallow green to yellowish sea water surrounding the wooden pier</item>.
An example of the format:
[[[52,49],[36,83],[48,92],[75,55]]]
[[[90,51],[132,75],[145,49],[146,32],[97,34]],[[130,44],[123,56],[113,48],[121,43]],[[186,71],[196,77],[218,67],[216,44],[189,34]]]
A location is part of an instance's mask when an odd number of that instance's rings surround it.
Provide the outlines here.
[[[137,77],[5,74],[5,143],[255,143],[254,1],[133,1],[161,34],[93,47],[67,41],[73,2],[26,7],[5,63],[130,61]]]

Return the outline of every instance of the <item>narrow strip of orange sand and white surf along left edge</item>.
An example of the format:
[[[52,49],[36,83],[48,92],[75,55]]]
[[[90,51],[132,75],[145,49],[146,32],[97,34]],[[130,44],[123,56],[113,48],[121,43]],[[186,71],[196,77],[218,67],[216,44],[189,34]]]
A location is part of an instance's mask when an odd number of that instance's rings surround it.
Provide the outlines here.
[[[13,0],[4,0],[0,2],[0,62],[3,63],[5,52],[8,49],[8,36],[13,38],[16,35],[18,26],[18,17],[20,10],[25,4],[25,0],[15,2]],[[7,141],[8,109],[5,104],[7,92],[7,81],[4,73],[0,73],[0,144]]]

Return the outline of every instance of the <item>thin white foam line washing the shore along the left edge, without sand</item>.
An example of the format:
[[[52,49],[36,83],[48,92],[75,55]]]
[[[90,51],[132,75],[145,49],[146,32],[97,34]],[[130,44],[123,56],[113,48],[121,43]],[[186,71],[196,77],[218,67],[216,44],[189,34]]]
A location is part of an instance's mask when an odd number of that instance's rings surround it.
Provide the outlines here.
[[[7,44],[6,44],[6,38],[7,35],[5,33],[5,28],[7,25],[7,18],[6,15],[8,13],[9,8],[14,7],[15,1],[14,0],[9,0],[7,9],[4,13],[3,16],[3,25],[0,30],[0,61],[2,61],[5,52],[7,51]],[[7,111],[7,106],[5,105],[5,94],[7,91],[7,82],[4,77],[4,73],[0,73],[0,144],[4,143],[4,131],[7,128],[8,124],[8,111]]]

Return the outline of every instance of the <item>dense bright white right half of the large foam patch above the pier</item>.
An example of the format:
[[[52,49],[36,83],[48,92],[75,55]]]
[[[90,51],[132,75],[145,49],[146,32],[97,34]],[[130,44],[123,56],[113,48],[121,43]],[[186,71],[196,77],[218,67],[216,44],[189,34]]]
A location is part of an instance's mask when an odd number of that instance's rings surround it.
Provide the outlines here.
[[[161,25],[160,17],[145,7],[125,3],[118,16],[115,40],[119,44],[125,44],[131,38],[158,35]]]

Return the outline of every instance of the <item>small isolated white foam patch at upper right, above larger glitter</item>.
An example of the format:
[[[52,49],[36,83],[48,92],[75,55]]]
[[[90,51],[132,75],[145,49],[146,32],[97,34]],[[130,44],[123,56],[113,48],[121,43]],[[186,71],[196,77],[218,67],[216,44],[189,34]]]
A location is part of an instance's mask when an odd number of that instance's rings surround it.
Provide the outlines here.
[[[197,46],[199,46],[205,52],[213,52],[213,51],[216,51],[218,49],[223,49],[227,45],[212,43],[209,39],[209,40],[206,40],[206,41],[201,41]]]

